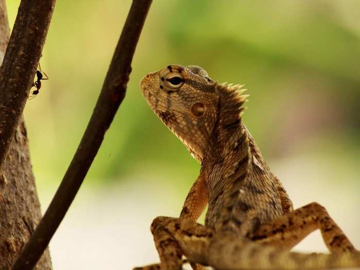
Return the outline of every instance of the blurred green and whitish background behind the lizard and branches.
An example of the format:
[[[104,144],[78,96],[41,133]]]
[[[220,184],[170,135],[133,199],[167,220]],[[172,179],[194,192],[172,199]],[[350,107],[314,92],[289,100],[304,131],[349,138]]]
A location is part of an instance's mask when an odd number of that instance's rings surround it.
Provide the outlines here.
[[[43,211],[92,113],[130,4],[56,4],[41,59],[50,80],[25,109]],[[13,25],[19,1],[7,5]],[[142,76],[172,63],[245,84],[244,122],[295,206],[325,205],[360,248],[359,10],[357,0],[154,1],[127,96],[50,243],[55,268],[157,261],[151,220],[178,215],[199,173],[138,87]],[[299,250],[326,250],[319,234],[311,239]]]

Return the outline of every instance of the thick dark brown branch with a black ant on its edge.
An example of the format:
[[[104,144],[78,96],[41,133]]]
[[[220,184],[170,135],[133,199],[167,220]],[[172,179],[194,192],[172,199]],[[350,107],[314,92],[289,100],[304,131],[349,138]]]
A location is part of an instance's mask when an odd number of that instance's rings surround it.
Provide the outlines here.
[[[0,70],[0,169],[24,111],[56,0],[22,0]]]

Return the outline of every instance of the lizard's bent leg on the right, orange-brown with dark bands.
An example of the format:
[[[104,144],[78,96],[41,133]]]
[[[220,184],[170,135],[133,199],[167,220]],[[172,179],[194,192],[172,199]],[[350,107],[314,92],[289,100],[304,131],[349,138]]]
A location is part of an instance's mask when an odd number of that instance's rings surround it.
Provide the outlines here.
[[[331,253],[356,251],[327,210],[318,203],[308,204],[260,226],[250,239],[291,249],[316,229],[320,229],[322,238]]]

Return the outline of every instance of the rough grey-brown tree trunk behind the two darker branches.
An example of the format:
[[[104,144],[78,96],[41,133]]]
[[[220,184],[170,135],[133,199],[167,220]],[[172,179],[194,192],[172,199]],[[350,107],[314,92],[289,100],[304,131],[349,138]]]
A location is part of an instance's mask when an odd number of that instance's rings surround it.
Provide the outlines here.
[[[9,41],[5,0],[0,0],[0,63]],[[11,267],[41,219],[24,119],[20,119],[0,172],[0,269]],[[52,269],[47,249],[34,269]]]

